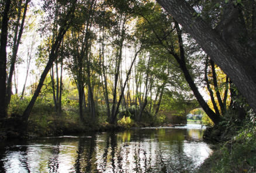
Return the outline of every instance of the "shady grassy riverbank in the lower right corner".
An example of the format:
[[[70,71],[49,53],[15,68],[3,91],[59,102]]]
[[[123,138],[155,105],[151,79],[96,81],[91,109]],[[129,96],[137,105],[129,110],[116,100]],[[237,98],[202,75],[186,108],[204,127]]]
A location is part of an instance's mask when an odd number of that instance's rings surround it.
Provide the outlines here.
[[[256,172],[255,126],[244,126],[238,132],[223,131],[219,137],[216,134],[220,129],[208,131],[212,132],[212,138],[207,140],[215,141],[214,152],[203,162],[198,172]]]

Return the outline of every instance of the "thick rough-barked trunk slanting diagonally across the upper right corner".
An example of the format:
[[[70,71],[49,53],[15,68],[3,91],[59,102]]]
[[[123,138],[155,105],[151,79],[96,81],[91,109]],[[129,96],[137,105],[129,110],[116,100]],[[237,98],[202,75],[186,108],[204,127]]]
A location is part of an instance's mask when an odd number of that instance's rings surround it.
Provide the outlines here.
[[[202,49],[229,76],[238,90],[256,112],[256,68],[250,50],[241,56],[240,50],[231,49],[219,33],[202,18],[185,0],[157,0],[182,27],[200,44]],[[196,14],[195,16],[193,14]]]

